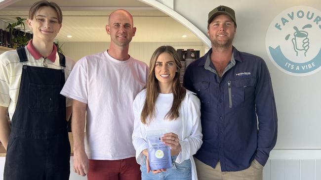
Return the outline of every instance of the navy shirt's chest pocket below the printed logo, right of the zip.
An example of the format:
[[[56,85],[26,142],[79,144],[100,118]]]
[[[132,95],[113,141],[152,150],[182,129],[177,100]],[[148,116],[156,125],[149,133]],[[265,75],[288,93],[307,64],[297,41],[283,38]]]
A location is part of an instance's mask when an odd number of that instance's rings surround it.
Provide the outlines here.
[[[227,82],[229,107],[237,108],[254,103],[255,83],[255,78],[229,80]]]

